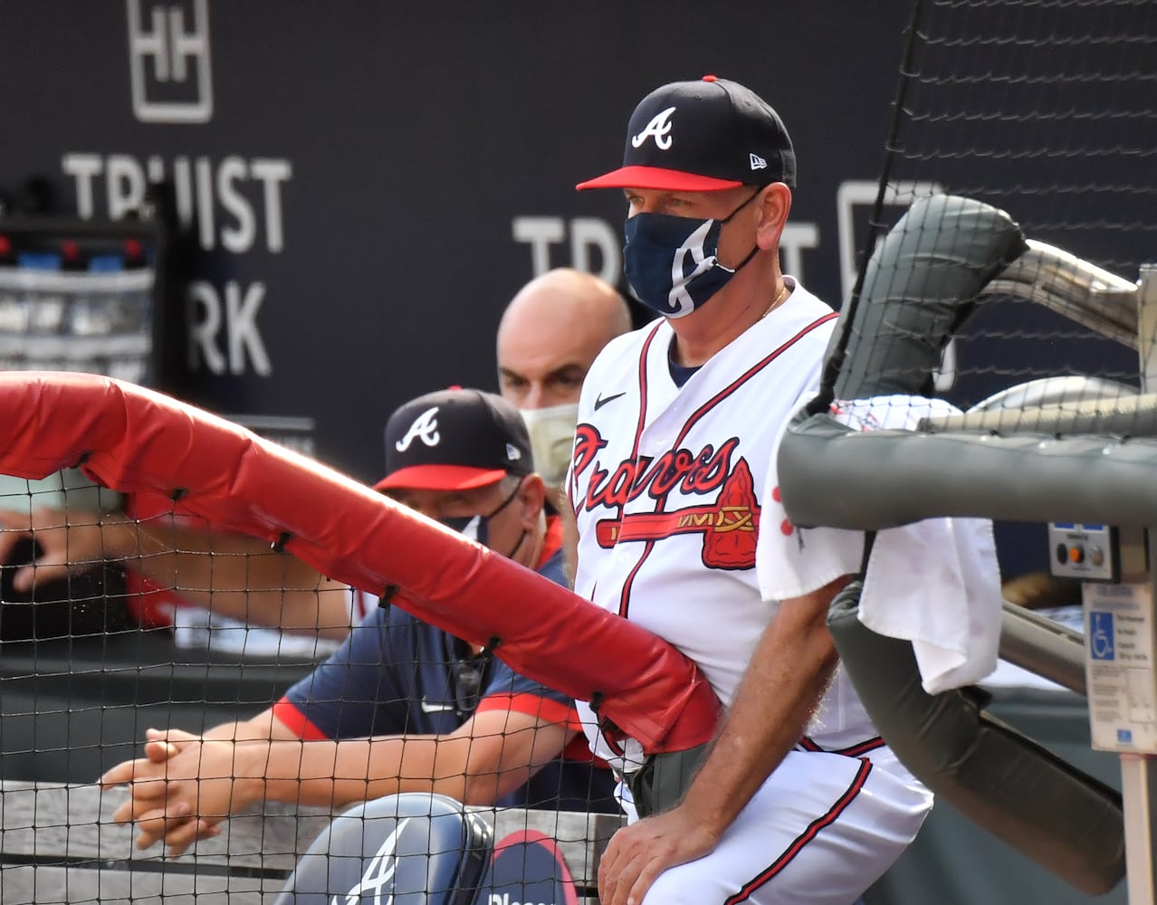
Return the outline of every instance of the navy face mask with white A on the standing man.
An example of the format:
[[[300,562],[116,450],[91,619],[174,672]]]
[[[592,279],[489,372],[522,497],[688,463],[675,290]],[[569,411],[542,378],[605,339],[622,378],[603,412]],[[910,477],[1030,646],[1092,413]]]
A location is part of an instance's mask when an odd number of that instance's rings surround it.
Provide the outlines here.
[[[720,230],[762,189],[723,220],[695,220],[670,214],[635,214],[627,220],[622,268],[639,301],[664,317],[685,317],[722,289],[749,260],[734,270],[718,263]]]

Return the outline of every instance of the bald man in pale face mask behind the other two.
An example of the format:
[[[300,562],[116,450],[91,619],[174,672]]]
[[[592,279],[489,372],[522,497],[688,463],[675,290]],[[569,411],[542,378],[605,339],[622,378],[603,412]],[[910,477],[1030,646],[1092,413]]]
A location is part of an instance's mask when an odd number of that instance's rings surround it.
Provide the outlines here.
[[[536,277],[502,315],[499,385],[526,421],[552,499],[570,463],[587,370],[603,346],[631,328],[631,309],[613,286],[569,267]]]

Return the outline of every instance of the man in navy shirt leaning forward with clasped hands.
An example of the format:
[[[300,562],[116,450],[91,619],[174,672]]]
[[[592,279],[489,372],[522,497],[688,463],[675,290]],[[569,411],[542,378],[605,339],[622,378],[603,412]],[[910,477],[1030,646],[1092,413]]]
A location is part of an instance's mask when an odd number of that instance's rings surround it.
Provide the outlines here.
[[[544,514],[517,409],[479,390],[428,393],[390,417],[385,442],[379,491],[563,582],[561,525]],[[569,698],[376,605],[270,709],[204,737],[149,730],[146,757],[102,782],[132,782],[115,819],[139,822],[141,847],[164,838],[175,852],[263,799],[329,805],[432,790],[467,804],[617,810]]]

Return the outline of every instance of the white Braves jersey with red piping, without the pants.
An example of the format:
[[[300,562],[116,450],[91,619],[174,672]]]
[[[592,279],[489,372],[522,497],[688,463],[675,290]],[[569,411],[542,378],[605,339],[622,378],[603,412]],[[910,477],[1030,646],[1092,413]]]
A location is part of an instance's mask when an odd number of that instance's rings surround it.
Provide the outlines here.
[[[794,529],[762,524],[761,510],[778,492],[788,419],[818,387],[834,318],[796,287],[681,389],[668,365],[673,332],[659,321],[609,345],[584,384],[569,485],[575,591],[683,650],[724,705],[779,605],[760,596],[756,542]],[[842,682],[812,729],[827,749],[875,735]]]

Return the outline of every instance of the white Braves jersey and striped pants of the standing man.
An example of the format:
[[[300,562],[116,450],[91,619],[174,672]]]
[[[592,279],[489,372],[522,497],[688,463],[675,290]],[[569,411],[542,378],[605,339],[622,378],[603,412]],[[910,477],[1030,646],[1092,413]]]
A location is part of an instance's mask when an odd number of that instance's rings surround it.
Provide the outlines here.
[[[567,476],[576,593],[678,647],[724,705],[780,605],[760,593],[767,558],[757,558],[757,539],[798,544],[789,522],[762,514],[778,509],[769,503],[779,499],[779,442],[818,388],[835,324],[828,306],[786,279],[788,300],[681,388],[670,373],[669,322],[609,344],[583,385]],[[620,772],[638,768],[638,743],[604,737],[589,707],[580,712],[596,753]],[[911,841],[930,804],[838,670],[796,750],[716,849],[664,873],[644,905],[847,905]],[[633,816],[628,795],[624,809]]]

